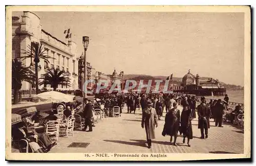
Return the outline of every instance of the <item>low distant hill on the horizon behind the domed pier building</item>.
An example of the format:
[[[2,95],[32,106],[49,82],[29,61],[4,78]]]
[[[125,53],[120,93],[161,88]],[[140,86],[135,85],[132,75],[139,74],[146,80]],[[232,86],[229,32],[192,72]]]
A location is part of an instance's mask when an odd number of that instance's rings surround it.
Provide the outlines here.
[[[151,76],[151,75],[145,75],[145,74],[124,74],[123,79],[133,79],[133,80],[148,80],[148,79],[162,79],[165,80],[168,76],[162,76],[162,75],[156,75],[156,76]],[[210,77],[200,77],[200,80],[208,80]],[[174,84],[181,84],[182,77],[173,77]],[[244,87],[237,86],[237,85],[230,85],[226,84],[225,82],[221,82],[220,84],[225,87],[226,89],[229,90],[244,90]]]

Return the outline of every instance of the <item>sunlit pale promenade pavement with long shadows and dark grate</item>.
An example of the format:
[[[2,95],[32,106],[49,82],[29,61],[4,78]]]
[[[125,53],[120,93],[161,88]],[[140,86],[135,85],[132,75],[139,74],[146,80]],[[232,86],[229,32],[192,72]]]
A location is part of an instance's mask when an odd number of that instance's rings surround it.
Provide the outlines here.
[[[180,110],[182,108],[180,107]],[[192,121],[193,140],[191,147],[182,144],[182,136],[177,139],[178,146],[170,145],[169,136],[162,136],[164,117],[158,121],[155,129],[156,139],[152,148],[146,147],[145,129],[141,128],[141,110],[136,114],[127,114],[123,110],[121,117],[105,118],[93,127],[93,132],[74,131],[74,136],[59,137],[57,145],[49,153],[243,153],[244,134],[229,124],[223,128],[210,122],[208,139],[200,139],[198,119]],[[165,116],[165,113],[164,113]],[[86,148],[70,148],[72,143],[90,143]]]

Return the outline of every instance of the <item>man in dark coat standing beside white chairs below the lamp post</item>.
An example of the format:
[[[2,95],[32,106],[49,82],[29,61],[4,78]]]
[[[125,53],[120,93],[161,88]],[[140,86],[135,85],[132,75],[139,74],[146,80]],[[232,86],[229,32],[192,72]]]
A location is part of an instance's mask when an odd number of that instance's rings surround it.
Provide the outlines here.
[[[89,126],[89,130],[88,132],[93,131],[93,127],[92,127],[92,120],[91,118],[93,117],[93,110],[92,110],[92,103],[90,100],[86,100],[86,106],[83,109],[83,116],[85,119],[85,126],[84,126],[84,131],[86,131],[87,126]]]

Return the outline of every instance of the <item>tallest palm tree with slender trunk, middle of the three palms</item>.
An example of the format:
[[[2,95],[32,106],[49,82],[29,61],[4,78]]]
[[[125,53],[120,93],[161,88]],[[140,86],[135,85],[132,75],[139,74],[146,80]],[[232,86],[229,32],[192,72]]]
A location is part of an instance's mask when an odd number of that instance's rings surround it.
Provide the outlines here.
[[[33,66],[32,59],[34,59],[35,62],[35,89],[36,94],[39,93],[39,87],[38,87],[38,63],[40,62],[40,59],[45,60],[47,63],[49,62],[49,59],[55,59],[50,56],[48,56],[46,53],[46,49],[44,46],[38,42],[31,42],[31,45],[28,45],[28,50],[24,50],[26,56],[23,57],[23,60],[26,60],[28,58],[31,59],[30,66]]]

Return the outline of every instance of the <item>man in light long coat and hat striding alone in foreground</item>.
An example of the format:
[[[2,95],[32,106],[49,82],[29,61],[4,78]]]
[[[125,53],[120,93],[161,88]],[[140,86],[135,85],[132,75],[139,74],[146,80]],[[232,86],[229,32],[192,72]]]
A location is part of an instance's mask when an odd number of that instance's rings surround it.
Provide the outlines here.
[[[152,104],[151,101],[146,102],[147,107],[142,110],[141,120],[141,127],[145,127],[148,148],[151,148],[151,140],[155,139],[155,126],[158,126],[156,109]]]

